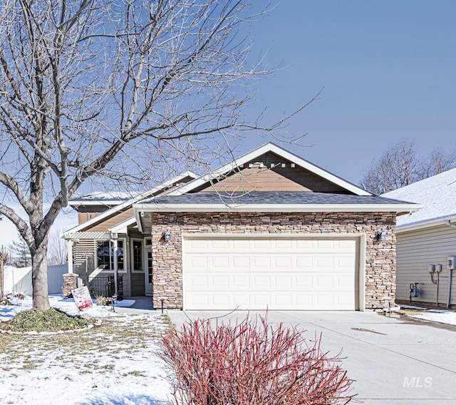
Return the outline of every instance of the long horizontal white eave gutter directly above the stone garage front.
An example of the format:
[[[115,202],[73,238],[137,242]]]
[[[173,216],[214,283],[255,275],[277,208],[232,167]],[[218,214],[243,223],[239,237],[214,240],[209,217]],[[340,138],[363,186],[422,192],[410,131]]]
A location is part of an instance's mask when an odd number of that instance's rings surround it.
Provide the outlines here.
[[[134,204],[139,212],[414,212],[419,204]]]

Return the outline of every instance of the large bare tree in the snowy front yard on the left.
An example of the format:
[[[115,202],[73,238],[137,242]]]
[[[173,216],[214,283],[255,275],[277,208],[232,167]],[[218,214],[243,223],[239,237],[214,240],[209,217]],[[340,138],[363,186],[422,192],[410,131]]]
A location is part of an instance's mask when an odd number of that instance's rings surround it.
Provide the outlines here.
[[[4,0],[0,5],[0,201],[32,257],[33,306],[47,309],[48,233],[87,181],[145,182],[171,155],[229,155],[251,86],[240,0]],[[246,132],[247,133],[247,132]],[[147,169],[145,169],[147,165]]]

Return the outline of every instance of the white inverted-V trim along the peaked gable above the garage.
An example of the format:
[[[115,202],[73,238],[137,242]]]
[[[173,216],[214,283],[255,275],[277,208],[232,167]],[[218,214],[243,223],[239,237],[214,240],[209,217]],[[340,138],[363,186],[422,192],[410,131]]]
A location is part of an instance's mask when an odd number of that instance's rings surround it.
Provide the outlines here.
[[[195,180],[192,180],[189,183],[182,185],[180,188],[171,190],[169,193],[167,193],[167,195],[182,195],[188,193],[191,190],[195,190],[195,188],[198,188],[200,185],[214,180],[215,178],[218,178],[219,176],[224,175],[229,171],[248,163],[249,160],[257,158],[259,155],[263,155],[264,153],[268,152],[275,153],[281,158],[290,160],[291,162],[296,163],[296,165],[301,166],[301,168],[309,170],[311,173],[314,173],[315,175],[318,175],[319,177],[324,178],[331,183],[344,188],[345,190],[351,191],[351,193],[355,193],[356,195],[372,195],[371,193],[368,193],[368,191],[363,190],[362,188],[358,188],[356,185],[348,183],[348,181],[338,178],[336,175],[333,175],[332,173],[329,173],[322,168],[318,168],[318,166],[308,162],[307,160],[299,158],[299,156],[296,156],[293,153],[279,148],[279,146],[274,145],[274,143],[266,143],[265,145],[262,145],[259,148],[254,149],[237,159],[234,159],[232,162],[227,163],[227,165],[223,165],[222,167],[213,170],[207,175],[203,175]]]

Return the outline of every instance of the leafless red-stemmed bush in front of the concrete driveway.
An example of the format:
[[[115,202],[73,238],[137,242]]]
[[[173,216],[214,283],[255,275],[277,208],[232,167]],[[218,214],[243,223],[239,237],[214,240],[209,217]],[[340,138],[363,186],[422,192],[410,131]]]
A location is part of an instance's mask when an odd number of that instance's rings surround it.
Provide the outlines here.
[[[267,318],[241,324],[209,320],[167,331],[159,356],[170,367],[177,404],[348,404],[352,379],[328,357],[319,339],[309,346],[304,332]]]

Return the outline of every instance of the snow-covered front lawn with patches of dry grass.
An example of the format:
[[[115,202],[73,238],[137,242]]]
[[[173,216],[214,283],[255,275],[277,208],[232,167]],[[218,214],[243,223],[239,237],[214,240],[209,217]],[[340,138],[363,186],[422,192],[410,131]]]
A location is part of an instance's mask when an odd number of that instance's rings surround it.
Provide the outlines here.
[[[52,307],[78,313],[73,299],[53,296],[50,301]],[[0,306],[0,319],[31,308],[29,297],[18,303]],[[81,314],[103,318],[103,324],[65,334],[0,334],[2,404],[170,404],[163,362],[155,354],[167,320],[96,305]]]

